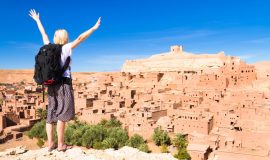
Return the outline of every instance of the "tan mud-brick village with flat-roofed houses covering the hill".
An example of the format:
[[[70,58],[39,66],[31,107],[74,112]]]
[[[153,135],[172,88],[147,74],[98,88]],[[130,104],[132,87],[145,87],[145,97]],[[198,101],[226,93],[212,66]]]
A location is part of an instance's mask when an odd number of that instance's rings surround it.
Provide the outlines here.
[[[119,72],[74,77],[76,114],[97,124],[117,118],[129,135],[151,139],[161,126],[188,140],[192,160],[215,155],[270,158],[270,70],[238,57],[192,54],[182,46],[127,60]],[[42,88],[32,82],[0,85],[0,142],[17,139],[40,117]],[[218,159],[216,159],[218,160]]]

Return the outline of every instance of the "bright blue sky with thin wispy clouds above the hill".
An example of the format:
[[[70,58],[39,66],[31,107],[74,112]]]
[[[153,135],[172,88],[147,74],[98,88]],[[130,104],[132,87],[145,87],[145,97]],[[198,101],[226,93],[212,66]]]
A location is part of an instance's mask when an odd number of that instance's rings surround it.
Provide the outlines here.
[[[0,69],[29,69],[42,45],[30,9],[52,41],[64,28],[74,40],[99,30],[73,51],[73,71],[117,71],[126,59],[183,45],[193,53],[240,56],[248,63],[270,61],[268,0],[3,0],[0,4]]]

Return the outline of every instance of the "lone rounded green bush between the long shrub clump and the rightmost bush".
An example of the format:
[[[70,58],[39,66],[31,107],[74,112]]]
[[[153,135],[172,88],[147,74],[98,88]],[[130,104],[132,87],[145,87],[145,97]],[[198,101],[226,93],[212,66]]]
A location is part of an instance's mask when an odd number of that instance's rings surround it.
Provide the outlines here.
[[[161,127],[155,128],[154,134],[152,135],[152,139],[154,140],[157,146],[160,145],[170,145],[171,139],[168,135],[168,132],[161,129]]]

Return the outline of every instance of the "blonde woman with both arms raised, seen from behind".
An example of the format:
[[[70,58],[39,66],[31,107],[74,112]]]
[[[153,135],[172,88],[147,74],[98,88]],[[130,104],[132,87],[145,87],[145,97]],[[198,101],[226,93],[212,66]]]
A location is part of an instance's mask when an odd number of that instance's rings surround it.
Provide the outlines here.
[[[30,10],[29,16],[32,17],[38,26],[38,29],[42,35],[43,43],[49,44],[49,38],[42,26],[42,23],[39,19],[39,13],[36,13],[35,10]],[[61,65],[63,66],[67,57],[72,55],[72,50],[76,48],[81,42],[89,37],[95,30],[98,29],[100,25],[101,18],[98,19],[96,24],[83,32],[77,39],[72,42],[69,42],[68,33],[66,30],[60,29],[55,31],[54,34],[54,43],[63,45],[62,54],[61,54]],[[58,151],[65,151],[70,149],[71,146],[68,146],[64,143],[64,131],[65,124],[69,120],[73,119],[75,116],[74,109],[74,96],[72,89],[72,79],[70,66],[63,74],[64,84],[56,85],[55,87],[49,87],[49,105],[48,105],[48,114],[46,119],[46,132],[48,137],[48,151],[52,151],[57,148]],[[57,108],[55,108],[57,106]],[[54,144],[53,140],[53,123],[57,122],[57,136],[58,144]]]

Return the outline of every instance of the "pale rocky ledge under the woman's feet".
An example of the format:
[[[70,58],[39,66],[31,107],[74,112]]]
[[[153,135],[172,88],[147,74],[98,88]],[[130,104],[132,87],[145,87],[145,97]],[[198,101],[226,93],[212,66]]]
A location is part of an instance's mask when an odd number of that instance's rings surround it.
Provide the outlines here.
[[[82,150],[74,147],[66,152],[54,150],[48,152],[47,148],[26,150],[19,146],[0,152],[0,160],[176,160],[170,153],[145,153],[131,147],[123,147],[119,150]]]

